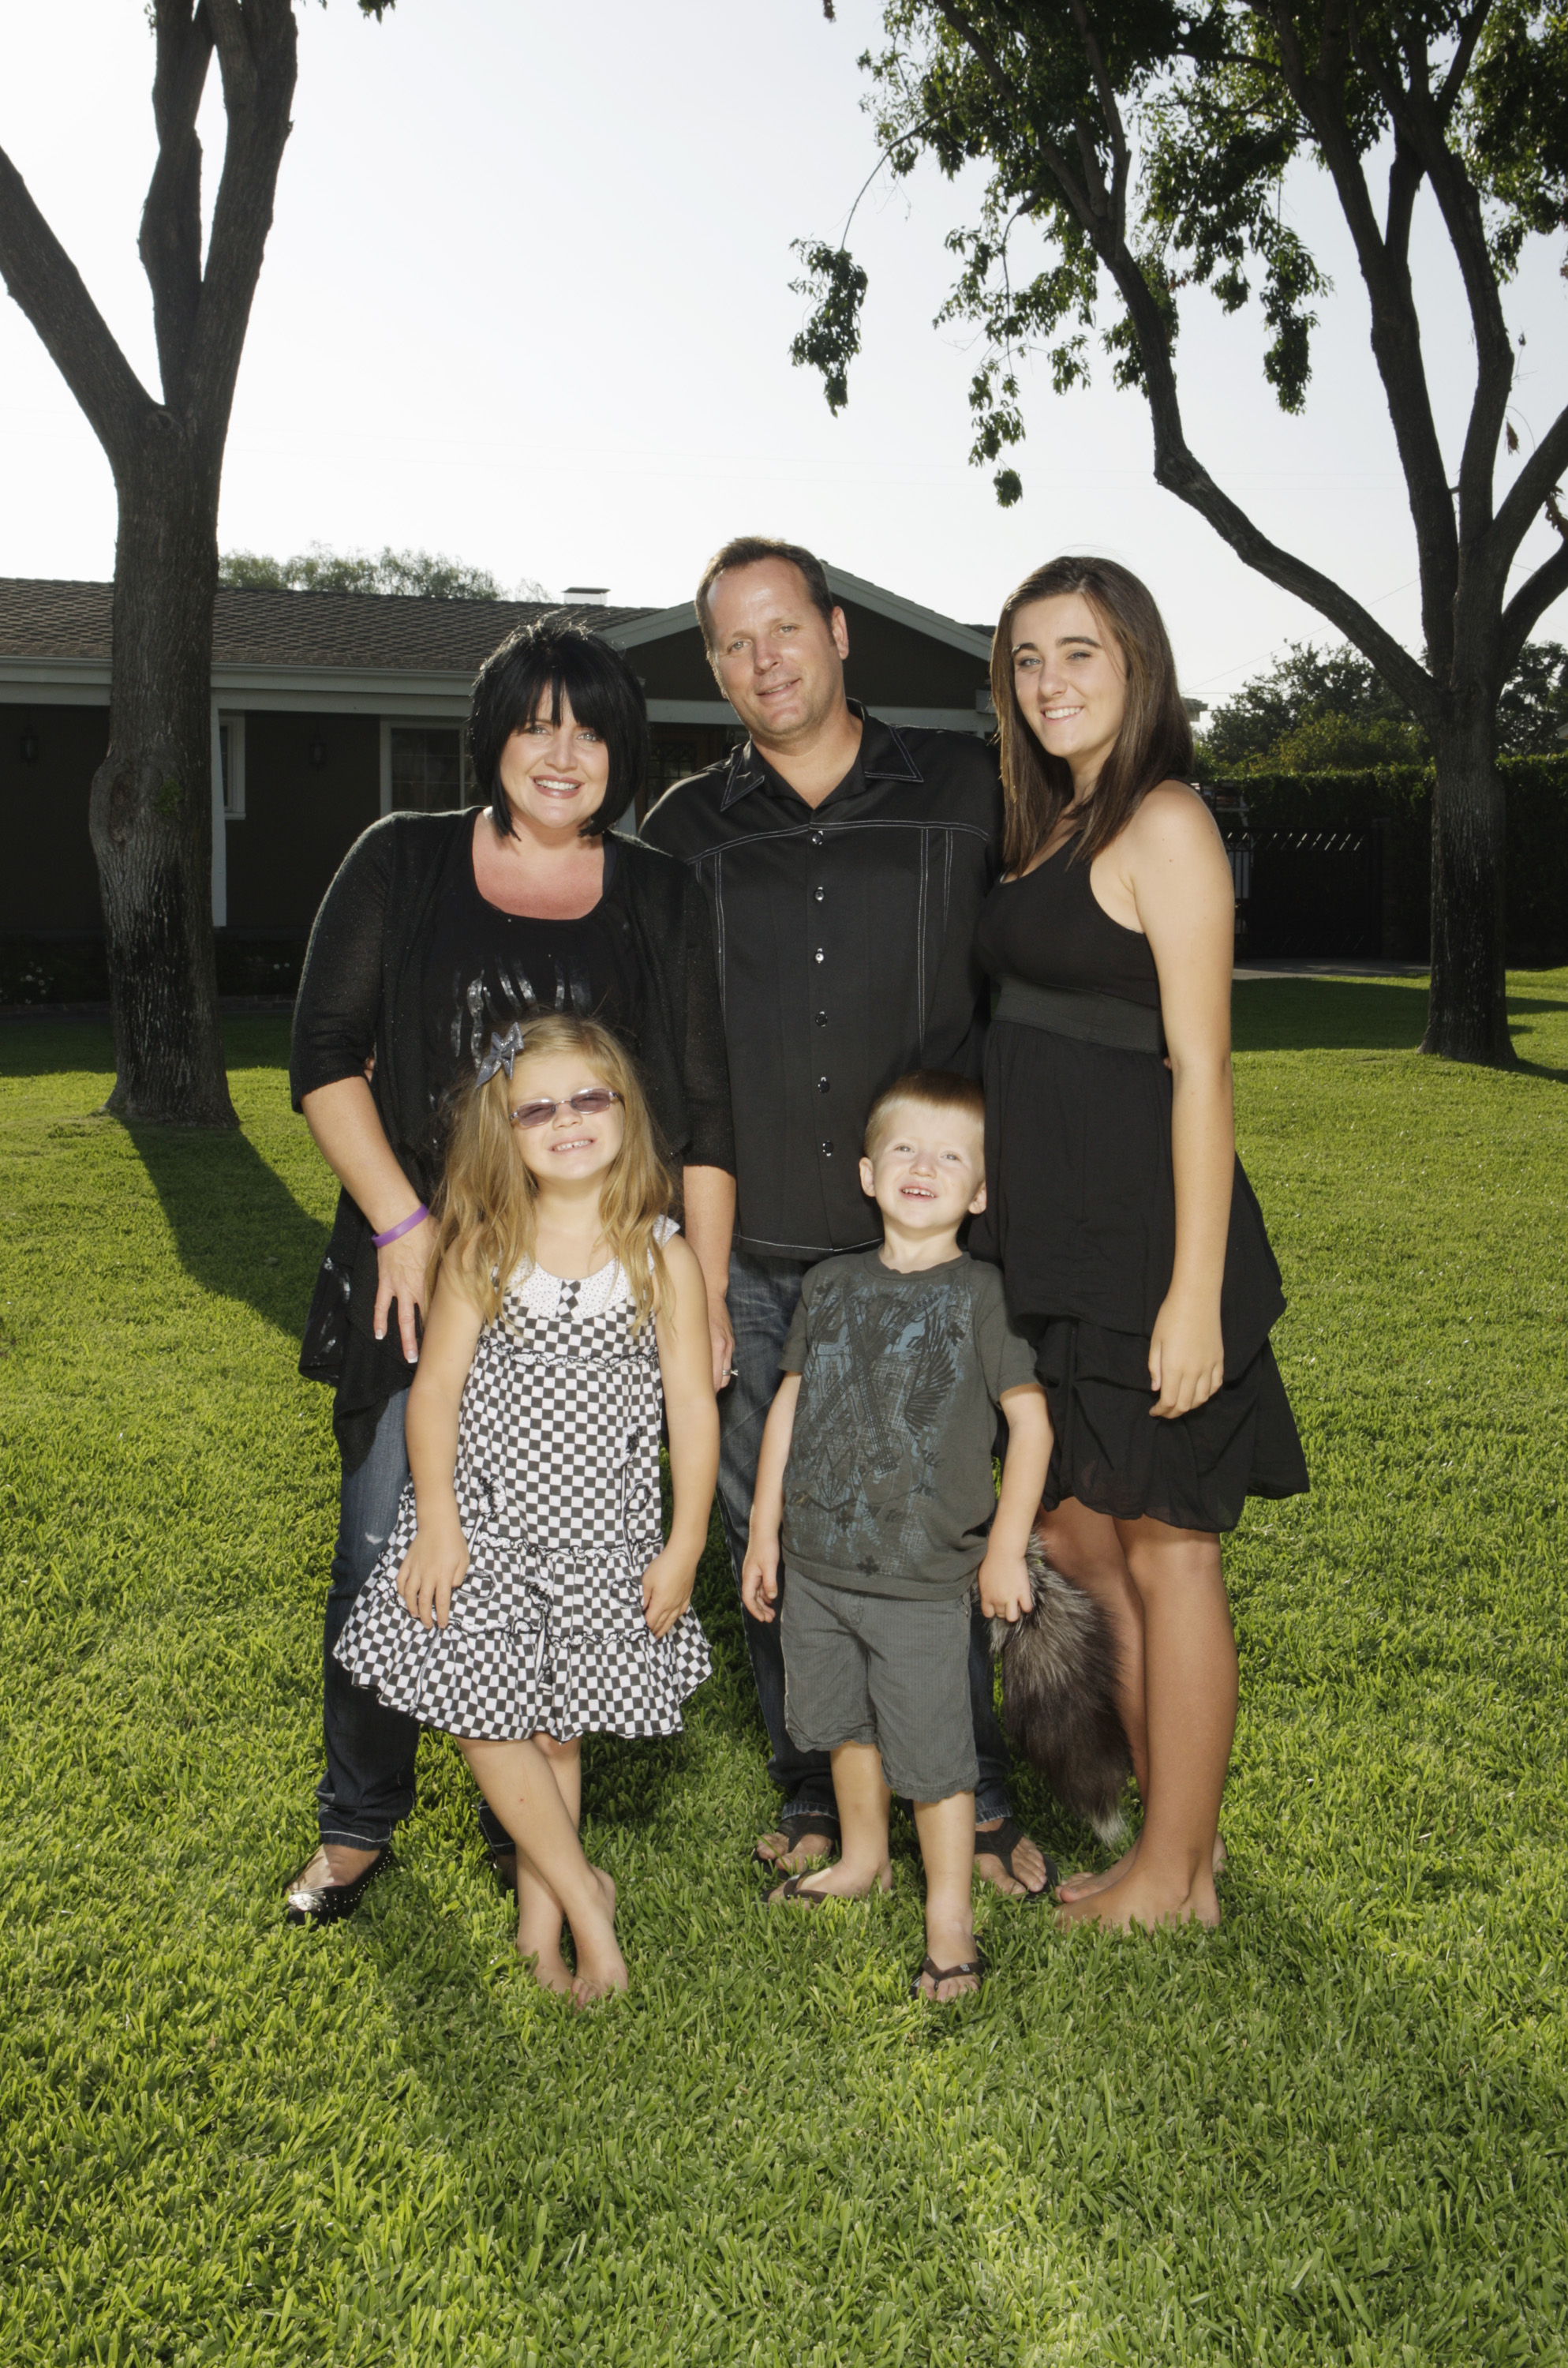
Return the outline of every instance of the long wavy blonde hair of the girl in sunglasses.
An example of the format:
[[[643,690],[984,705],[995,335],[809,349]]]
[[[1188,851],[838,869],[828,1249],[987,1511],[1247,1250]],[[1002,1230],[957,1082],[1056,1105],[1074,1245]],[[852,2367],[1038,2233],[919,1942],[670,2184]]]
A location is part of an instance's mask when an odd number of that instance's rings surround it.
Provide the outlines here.
[[[587,1073],[621,1096],[621,1151],[599,1186],[599,1229],[611,1257],[625,1269],[632,1328],[642,1331],[673,1307],[658,1220],[670,1215],[675,1184],[637,1073],[609,1028],[564,1014],[526,1021],[516,1070],[535,1054],[561,1051],[580,1054]],[[505,1068],[483,1085],[469,1080],[457,1089],[445,1172],[431,1201],[436,1246],[429,1288],[436,1288],[436,1274],[445,1265],[488,1319],[500,1314],[516,1269],[533,1262],[538,1234],[540,1189],[512,1127],[519,1099],[516,1075],[507,1077]]]

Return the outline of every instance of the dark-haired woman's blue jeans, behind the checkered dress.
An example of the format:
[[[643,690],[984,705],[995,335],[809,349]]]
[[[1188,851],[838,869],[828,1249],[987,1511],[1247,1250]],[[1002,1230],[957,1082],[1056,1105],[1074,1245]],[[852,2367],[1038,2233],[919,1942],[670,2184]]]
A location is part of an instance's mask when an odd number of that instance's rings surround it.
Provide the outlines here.
[[[365,1461],[343,1473],[339,1494],[339,1542],[327,1591],[322,1636],[322,1738],[327,1769],[315,1788],[322,1842],[384,1849],[393,1828],[415,1807],[415,1750],[419,1722],[388,1710],[369,1686],[355,1686],[332,1648],[355,1606],[360,1587],[381,1561],[381,1546],[398,1520],[407,1480],[403,1418],[407,1390],[386,1399]],[[478,1823],[488,1842],[509,1842],[495,1814],[481,1804]]]

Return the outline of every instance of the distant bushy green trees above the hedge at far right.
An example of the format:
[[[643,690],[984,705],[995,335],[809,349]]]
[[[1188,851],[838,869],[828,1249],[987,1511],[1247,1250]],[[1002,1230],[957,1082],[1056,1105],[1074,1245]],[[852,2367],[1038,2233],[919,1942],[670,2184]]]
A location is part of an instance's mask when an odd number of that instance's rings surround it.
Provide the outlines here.
[[[1525,644],[1497,701],[1502,755],[1554,755],[1568,725],[1568,649]],[[1424,765],[1426,734],[1355,649],[1286,644],[1286,656],[1213,710],[1199,741],[1210,772],[1352,772]]]

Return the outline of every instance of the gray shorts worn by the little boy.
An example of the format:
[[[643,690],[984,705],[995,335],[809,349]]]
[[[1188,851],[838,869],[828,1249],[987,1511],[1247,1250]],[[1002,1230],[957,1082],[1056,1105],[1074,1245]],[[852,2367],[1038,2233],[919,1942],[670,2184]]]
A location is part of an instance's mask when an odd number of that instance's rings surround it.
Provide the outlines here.
[[[874,1743],[900,1800],[973,1793],[969,1598],[857,1596],[784,1572],[784,1724],[805,1752]]]

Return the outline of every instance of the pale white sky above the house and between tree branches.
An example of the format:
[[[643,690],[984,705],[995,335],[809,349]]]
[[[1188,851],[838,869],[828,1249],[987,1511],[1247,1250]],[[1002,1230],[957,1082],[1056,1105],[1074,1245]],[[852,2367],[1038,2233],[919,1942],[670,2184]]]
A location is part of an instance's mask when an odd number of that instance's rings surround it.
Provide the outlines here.
[[[791,369],[789,242],[836,234],[869,170],[855,57],[872,0],[353,0],[301,5],[301,78],[223,483],[223,547],[424,545],[493,568],[673,604],[732,533],[782,533],[964,620],[1061,549],[1153,587],[1184,689],[1234,691],[1286,637],[1334,639],[1248,573],[1151,476],[1144,405],[1026,386],[1023,502],[966,464],[973,348],[931,320],[943,237],[973,189],[879,187],[853,246],[872,272],[850,407]],[[135,234],[154,156],[140,0],[0,19],[0,144],[156,388]],[[223,152],[204,111],[206,197]],[[966,204],[969,199],[969,204]],[[1367,315],[1331,194],[1293,211],[1336,275],[1305,419],[1262,386],[1260,324],[1187,301],[1194,450],[1279,542],[1341,575],[1419,646],[1414,549]],[[1424,218],[1426,350],[1457,448],[1471,386],[1459,282]],[[1530,450],[1568,388],[1556,260],[1509,291],[1514,422]],[[114,564],[102,452],[33,329],[0,303],[0,573]],[[1551,547],[1540,526],[1525,561]],[[1568,639],[1568,604],[1540,628]]]

